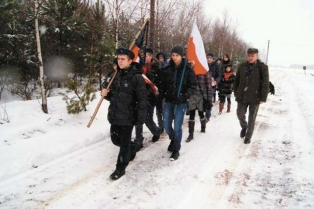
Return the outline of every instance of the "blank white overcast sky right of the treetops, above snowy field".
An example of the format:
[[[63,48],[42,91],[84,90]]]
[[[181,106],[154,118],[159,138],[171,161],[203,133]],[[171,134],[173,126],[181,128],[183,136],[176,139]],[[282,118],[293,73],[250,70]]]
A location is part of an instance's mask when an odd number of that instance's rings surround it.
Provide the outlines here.
[[[314,64],[314,0],[206,0],[209,17],[228,11],[239,36],[268,64]]]

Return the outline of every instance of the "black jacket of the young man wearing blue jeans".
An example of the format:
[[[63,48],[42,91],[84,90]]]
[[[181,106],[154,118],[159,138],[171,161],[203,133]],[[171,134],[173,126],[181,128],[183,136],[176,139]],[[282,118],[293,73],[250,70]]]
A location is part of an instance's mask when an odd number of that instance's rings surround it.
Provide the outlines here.
[[[170,60],[169,65],[160,71],[158,77],[157,87],[160,90],[162,98],[169,103],[186,103],[192,92],[196,91],[197,79],[192,71],[191,65],[186,63],[185,72],[183,74],[183,83],[179,97],[177,96],[180,80],[183,73],[185,58],[182,59],[181,64],[176,67],[174,62]]]

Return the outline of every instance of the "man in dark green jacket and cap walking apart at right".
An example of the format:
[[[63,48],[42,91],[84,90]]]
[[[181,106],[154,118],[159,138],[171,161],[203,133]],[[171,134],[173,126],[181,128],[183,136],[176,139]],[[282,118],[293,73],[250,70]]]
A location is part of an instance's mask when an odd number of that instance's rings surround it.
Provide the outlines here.
[[[248,49],[247,61],[239,65],[234,83],[236,115],[242,128],[240,137],[245,136],[244,144],[251,142],[257,112],[260,104],[266,102],[268,91],[268,66],[259,60],[258,49]],[[249,121],[246,122],[245,114],[248,107]]]

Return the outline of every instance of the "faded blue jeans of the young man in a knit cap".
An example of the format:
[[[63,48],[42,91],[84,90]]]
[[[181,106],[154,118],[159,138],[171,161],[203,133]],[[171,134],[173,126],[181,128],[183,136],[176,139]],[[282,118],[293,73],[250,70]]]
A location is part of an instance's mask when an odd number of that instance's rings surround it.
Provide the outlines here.
[[[177,106],[176,114],[174,114],[175,106]],[[182,140],[182,125],[186,111],[186,103],[173,104],[165,103],[163,109],[163,128],[169,135],[169,138],[174,140],[173,150],[179,151],[181,148]],[[172,122],[174,121],[174,128]]]

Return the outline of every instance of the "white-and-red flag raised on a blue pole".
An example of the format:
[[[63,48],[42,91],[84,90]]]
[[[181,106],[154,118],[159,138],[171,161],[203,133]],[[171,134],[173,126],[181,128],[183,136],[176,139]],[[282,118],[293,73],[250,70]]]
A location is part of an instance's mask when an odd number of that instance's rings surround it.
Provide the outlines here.
[[[196,25],[196,21],[193,23],[191,36],[187,44],[186,55],[189,60],[195,62],[195,75],[203,75],[209,71],[203,40]]]

